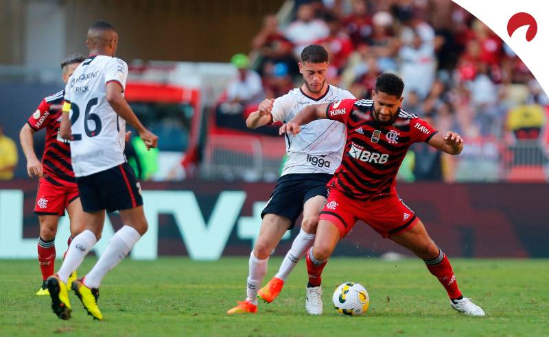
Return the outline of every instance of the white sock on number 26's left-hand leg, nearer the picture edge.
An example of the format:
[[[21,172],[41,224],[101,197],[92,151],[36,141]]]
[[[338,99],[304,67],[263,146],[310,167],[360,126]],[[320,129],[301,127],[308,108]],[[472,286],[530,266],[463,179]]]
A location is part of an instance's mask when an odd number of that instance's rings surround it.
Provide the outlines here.
[[[65,255],[61,269],[57,272],[62,282],[67,283],[67,279],[69,279],[71,273],[78,269],[78,266],[84,261],[86,254],[96,242],[97,238],[95,238],[95,234],[89,229],[73,238],[69,249],[67,249],[67,255]]]

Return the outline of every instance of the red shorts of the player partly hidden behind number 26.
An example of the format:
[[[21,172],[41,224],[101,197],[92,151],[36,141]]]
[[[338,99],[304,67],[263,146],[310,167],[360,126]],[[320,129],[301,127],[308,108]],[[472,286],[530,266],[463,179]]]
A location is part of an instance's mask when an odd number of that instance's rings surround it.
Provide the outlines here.
[[[78,198],[78,187],[57,186],[46,179],[40,179],[34,213],[38,215],[65,215],[65,208]]]

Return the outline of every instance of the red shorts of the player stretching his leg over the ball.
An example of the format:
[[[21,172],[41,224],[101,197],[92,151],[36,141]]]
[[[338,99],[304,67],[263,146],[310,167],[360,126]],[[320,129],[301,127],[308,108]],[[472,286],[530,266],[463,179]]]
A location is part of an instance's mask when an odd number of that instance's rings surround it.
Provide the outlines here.
[[[347,197],[338,190],[329,190],[328,200],[320,220],[334,223],[343,238],[355,223],[364,221],[384,238],[405,232],[414,227],[419,219],[397,195],[388,195],[368,201]]]

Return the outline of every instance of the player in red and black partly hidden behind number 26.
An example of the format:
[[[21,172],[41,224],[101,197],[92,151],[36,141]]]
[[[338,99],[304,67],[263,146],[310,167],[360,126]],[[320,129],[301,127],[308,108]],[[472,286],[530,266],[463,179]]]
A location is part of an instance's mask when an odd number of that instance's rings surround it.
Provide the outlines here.
[[[69,55],[61,62],[62,78],[65,83],[75,68],[84,61],[80,54]],[[38,238],[38,262],[42,271],[42,287],[36,295],[49,295],[45,287],[47,277],[54,274],[56,248],[54,241],[59,217],[65,215],[65,209],[71,220],[71,236],[82,232],[83,210],[78,197],[78,187],[71,166],[71,147],[58,132],[62,116],[64,91],[48,96],[40,102],[36,112],[30,116],[21,129],[19,138],[27,158],[29,177],[40,177],[34,212],[40,222]],[[36,157],[33,147],[33,134],[46,129],[46,142],[42,162]],[[70,242],[71,238],[69,238]]]

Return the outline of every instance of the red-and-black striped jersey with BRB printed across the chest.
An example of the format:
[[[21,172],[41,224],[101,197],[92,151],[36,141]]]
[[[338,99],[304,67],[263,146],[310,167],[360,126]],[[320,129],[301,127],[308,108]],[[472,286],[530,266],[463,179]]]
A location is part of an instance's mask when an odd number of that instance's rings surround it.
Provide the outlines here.
[[[400,108],[392,125],[380,125],[373,118],[373,101],[366,99],[331,103],[326,114],[347,126],[341,165],[327,187],[360,200],[396,194],[397,173],[408,148],[436,134],[427,122]]]

